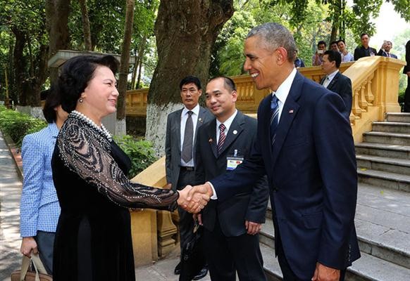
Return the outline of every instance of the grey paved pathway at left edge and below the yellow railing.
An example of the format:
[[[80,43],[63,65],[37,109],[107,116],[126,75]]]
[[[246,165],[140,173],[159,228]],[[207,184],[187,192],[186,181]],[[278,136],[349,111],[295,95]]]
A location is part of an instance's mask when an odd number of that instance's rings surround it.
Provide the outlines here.
[[[20,194],[22,183],[15,162],[0,131],[0,281],[9,281],[20,268]],[[137,281],[177,281],[173,274],[178,250],[156,263],[135,269]],[[201,279],[211,280],[209,275]]]

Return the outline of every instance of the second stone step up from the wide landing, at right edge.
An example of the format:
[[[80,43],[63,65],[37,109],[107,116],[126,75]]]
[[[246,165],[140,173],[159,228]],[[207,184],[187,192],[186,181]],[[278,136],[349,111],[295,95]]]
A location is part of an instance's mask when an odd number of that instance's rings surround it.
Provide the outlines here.
[[[388,171],[390,173],[410,175],[410,160],[380,157],[373,155],[357,155],[357,167],[359,169],[372,169]]]

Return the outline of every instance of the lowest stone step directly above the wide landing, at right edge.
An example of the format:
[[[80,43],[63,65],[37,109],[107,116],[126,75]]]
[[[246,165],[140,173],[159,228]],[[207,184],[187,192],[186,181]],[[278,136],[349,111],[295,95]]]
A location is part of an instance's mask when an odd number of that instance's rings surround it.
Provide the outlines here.
[[[358,168],[357,176],[359,177],[359,183],[410,192],[410,176],[404,174]]]

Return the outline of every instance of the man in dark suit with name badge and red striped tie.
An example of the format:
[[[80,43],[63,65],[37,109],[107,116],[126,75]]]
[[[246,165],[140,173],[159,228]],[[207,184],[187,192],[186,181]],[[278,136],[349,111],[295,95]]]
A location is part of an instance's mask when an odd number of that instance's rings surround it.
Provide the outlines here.
[[[256,119],[235,107],[235,83],[216,77],[206,86],[206,105],[216,119],[201,126],[197,139],[197,181],[204,183],[236,169],[249,157],[256,138]],[[213,200],[199,214],[204,226],[204,251],[213,281],[266,280],[259,249],[265,222],[268,185],[263,176],[253,189],[228,200]]]

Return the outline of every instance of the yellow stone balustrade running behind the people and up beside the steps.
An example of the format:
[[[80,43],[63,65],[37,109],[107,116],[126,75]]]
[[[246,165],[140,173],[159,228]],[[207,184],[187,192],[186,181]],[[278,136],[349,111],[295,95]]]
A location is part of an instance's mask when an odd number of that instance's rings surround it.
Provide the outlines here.
[[[343,63],[340,67],[341,72],[352,80],[353,103],[350,121],[355,142],[361,142],[362,134],[371,130],[373,121],[383,120],[385,112],[400,111],[397,94],[399,70],[403,65],[405,63],[401,60],[376,56],[362,58],[355,63]],[[305,77],[317,82],[324,75],[321,67],[305,67],[299,71]],[[256,117],[255,112],[259,102],[269,91],[256,90],[249,75],[232,77],[232,79],[237,84],[239,96],[237,107],[248,115]],[[146,105],[147,92],[147,89],[132,91],[127,98],[134,100],[134,104],[138,100],[139,108],[142,109],[143,104]],[[145,102],[141,103],[141,99],[130,97],[133,95],[144,97]],[[138,115],[144,116],[141,112]],[[165,157],[162,157],[133,178],[133,181],[163,187],[166,185],[165,173]],[[136,266],[156,261],[159,256],[165,256],[175,249],[178,240],[176,235],[178,229],[173,223],[175,213],[144,209],[132,211],[131,216]]]

